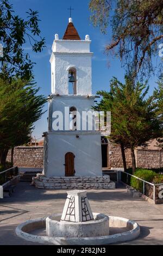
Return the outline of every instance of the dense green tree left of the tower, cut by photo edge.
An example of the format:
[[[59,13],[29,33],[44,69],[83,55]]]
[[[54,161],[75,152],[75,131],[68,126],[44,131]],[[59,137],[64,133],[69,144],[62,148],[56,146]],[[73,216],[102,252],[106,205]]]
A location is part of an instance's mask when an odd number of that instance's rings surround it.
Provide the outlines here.
[[[47,99],[33,81],[0,78],[0,160],[5,166],[9,149],[30,141],[33,124],[43,114]]]

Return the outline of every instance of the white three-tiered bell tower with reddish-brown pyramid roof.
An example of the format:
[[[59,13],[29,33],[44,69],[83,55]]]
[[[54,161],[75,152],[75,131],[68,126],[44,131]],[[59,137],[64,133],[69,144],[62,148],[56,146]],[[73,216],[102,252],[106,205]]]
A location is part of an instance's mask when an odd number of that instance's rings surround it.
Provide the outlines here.
[[[72,18],[60,40],[55,34],[51,62],[48,132],[44,133],[46,176],[102,175],[101,133],[90,123],[92,95],[90,38],[81,40]],[[62,119],[62,120],[61,120]]]

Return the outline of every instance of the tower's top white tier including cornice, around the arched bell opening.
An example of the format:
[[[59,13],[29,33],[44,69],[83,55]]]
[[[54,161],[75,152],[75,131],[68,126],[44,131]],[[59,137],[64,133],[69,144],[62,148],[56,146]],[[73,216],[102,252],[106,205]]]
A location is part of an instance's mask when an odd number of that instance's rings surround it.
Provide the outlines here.
[[[90,42],[85,40],[54,40],[51,56],[52,94],[68,94],[68,71],[77,70],[77,94],[92,94]]]

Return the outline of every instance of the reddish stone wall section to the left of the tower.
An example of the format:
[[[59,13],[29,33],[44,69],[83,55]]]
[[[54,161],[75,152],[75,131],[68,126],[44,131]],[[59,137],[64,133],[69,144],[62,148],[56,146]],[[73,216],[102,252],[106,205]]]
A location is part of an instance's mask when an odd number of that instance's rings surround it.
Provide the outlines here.
[[[7,161],[11,161],[11,151]],[[16,147],[14,148],[14,166],[43,167],[43,147]]]

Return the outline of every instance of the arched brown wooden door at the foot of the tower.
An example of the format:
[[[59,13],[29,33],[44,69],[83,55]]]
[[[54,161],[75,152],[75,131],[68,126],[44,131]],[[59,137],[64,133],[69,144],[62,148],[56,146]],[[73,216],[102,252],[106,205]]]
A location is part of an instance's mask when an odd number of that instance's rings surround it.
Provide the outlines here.
[[[74,157],[71,152],[65,155],[65,176],[74,176]]]

